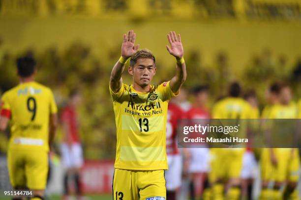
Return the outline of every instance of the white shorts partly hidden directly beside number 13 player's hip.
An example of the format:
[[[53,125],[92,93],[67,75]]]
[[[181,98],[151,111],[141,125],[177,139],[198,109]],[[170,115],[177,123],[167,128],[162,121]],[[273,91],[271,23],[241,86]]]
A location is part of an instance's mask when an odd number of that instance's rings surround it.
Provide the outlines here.
[[[165,171],[166,190],[174,191],[181,186],[182,156],[167,155],[168,170]]]

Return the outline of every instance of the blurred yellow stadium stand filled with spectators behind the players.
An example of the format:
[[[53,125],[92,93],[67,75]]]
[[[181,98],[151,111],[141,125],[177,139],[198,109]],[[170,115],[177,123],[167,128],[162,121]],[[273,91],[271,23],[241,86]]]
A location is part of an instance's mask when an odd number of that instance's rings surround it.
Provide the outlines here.
[[[108,82],[127,30],[156,56],[155,83],[173,75],[175,60],[165,47],[173,30],[181,33],[188,89],[208,84],[213,102],[239,80],[256,90],[262,107],[275,80],[289,81],[300,98],[293,73],[301,56],[300,20],[300,0],[0,0],[0,90],[18,83],[14,59],[34,55],[37,81],[54,90],[59,107],[70,90],[82,89],[85,157],[112,158]]]

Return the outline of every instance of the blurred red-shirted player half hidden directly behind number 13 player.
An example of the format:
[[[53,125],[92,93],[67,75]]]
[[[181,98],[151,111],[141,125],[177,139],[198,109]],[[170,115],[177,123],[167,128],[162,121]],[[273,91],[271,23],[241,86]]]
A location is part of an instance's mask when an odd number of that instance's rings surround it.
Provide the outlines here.
[[[178,120],[184,119],[181,108],[173,102],[168,103],[166,121],[166,153],[168,170],[165,171],[166,199],[176,200],[182,179],[182,156],[177,144]]]

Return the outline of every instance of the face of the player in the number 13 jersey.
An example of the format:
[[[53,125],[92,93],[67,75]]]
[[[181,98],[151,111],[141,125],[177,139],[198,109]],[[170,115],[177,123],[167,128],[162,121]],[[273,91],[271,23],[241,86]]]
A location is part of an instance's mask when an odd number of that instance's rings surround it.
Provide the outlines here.
[[[133,81],[141,87],[150,85],[153,76],[156,74],[156,67],[153,59],[138,59],[134,67],[129,67],[128,73],[133,76]]]

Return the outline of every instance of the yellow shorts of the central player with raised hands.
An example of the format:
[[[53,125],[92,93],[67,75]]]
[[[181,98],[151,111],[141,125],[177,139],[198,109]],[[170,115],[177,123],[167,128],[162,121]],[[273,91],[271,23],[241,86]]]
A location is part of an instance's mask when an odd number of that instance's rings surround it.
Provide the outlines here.
[[[164,170],[115,169],[113,196],[114,200],[165,200]]]

